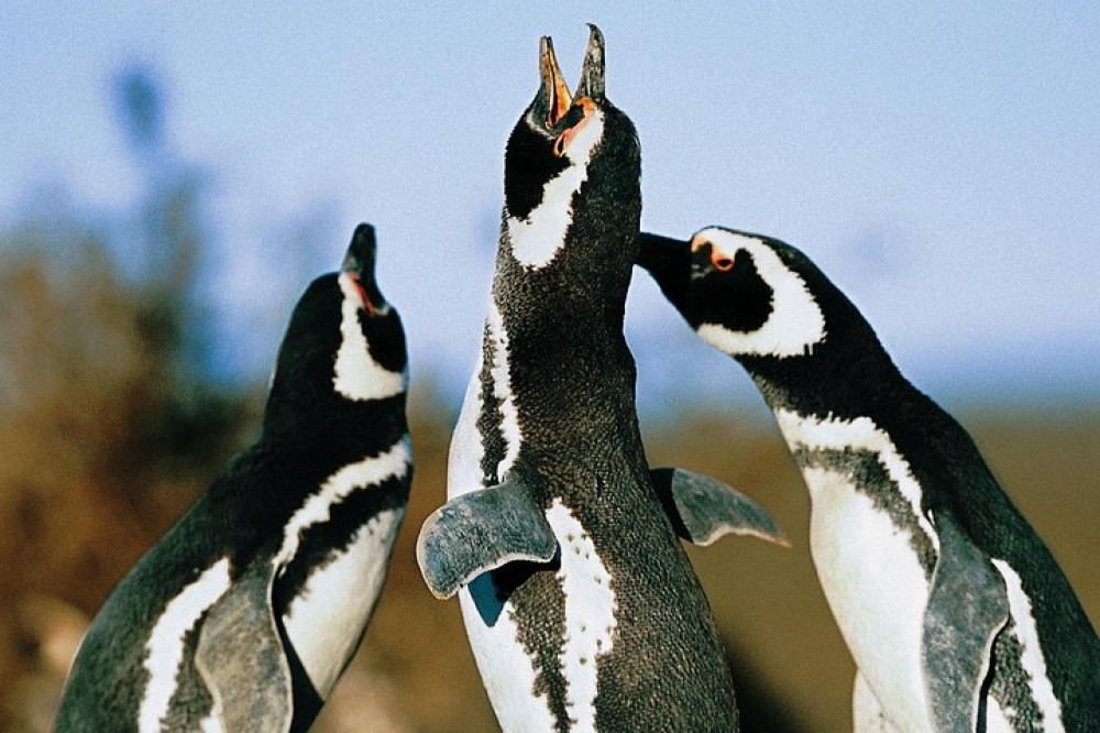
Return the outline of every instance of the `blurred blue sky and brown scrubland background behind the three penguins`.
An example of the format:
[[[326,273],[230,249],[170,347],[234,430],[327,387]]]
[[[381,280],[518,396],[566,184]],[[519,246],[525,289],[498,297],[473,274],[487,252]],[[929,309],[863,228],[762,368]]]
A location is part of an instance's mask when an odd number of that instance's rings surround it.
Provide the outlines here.
[[[409,332],[417,473],[316,730],[494,729],[413,545],[443,501],[538,37],[575,79],[588,21],[641,139],[644,227],[811,254],[971,430],[1097,625],[1100,7],[397,4],[0,8],[0,730],[48,729],[85,625],[253,439],[290,307],[361,220]],[[690,549],[745,730],[850,729],[770,415],[645,274],[627,320],[651,461],[737,485],[794,544]]]

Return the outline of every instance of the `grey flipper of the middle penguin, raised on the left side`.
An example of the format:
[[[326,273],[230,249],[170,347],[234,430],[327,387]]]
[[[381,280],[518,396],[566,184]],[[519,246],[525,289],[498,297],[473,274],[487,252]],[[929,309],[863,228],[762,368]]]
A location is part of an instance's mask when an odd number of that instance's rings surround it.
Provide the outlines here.
[[[514,477],[443,504],[425,519],[416,544],[424,580],[440,599],[488,570],[516,560],[549,562],[557,551],[546,513]]]

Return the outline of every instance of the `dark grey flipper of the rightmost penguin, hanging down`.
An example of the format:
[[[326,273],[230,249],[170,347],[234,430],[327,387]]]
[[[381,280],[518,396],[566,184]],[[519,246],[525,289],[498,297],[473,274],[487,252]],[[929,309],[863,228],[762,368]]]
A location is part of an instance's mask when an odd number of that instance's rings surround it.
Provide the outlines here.
[[[1008,591],[950,512],[936,512],[933,519],[939,561],[921,639],[930,719],[936,731],[976,731],[993,641],[1009,620]]]

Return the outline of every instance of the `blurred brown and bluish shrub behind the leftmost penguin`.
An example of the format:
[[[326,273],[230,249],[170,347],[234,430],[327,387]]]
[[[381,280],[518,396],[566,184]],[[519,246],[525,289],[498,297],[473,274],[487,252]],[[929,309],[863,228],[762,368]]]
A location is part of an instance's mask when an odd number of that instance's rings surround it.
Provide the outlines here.
[[[3,730],[37,727],[42,711],[15,690],[50,701],[43,686],[68,661],[54,635],[72,644],[74,614],[95,613],[252,422],[245,395],[196,366],[202,178],[145,129],[160,119],[155,80],[131,70],[118,85],[144,180],[123,226],[62,205],[0,231]]]

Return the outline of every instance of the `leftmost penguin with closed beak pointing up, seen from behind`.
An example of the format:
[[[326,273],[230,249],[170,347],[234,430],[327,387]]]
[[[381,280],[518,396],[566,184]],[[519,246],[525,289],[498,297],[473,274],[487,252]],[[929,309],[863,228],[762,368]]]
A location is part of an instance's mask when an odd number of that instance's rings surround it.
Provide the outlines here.
[[[408,501],[405,335],[361,225],[298,302],[258,440],[111,593],[58,731],[305,731],[351,659]]]

